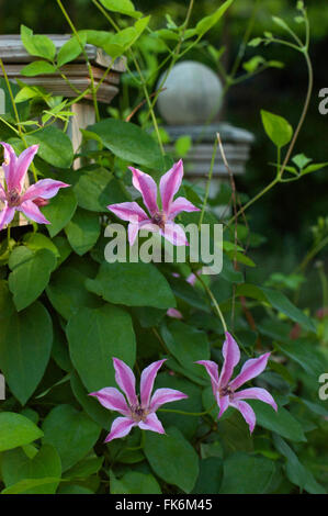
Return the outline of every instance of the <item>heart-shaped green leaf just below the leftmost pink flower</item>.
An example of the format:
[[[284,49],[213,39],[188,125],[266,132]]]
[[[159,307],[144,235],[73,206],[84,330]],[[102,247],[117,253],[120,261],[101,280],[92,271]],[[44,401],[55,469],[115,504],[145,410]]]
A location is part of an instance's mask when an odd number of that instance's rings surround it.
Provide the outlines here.
[[[56,256],[48,249],[33,253],[25,246],[13,249],[9,258],[9,289],[13,302],[20,312],[32,304],[49,282],[50,273],[56,267]]]

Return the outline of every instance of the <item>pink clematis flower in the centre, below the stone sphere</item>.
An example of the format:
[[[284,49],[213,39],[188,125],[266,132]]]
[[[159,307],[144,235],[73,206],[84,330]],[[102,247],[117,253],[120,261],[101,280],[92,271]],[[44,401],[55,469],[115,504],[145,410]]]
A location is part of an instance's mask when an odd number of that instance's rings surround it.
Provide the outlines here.
[[[136,202],[110,204],[108,209],[123,221],[129,222],[129,245],[134,244],[138,231],[143,228],[154,233],[159,232],[176,246],[188,246],[185,233],[181,226],[174,224],[174,217],[181,212],[197,212],[200,209],[182,197],[173,201],[182,181],[182,159],[160,179],[161,209],[157,204],[157,186],[154,179],[142,170],[128,168],[133,173],[133,186],[142,193],[149,215]]]

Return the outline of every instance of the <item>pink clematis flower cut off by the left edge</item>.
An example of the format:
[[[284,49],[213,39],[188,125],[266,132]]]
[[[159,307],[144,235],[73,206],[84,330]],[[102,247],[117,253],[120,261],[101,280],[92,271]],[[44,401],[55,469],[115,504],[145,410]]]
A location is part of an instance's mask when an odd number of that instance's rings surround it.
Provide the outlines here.
[[[0,213],[0,229],[10,224],[14,217],[15,211],[23,212],[32,221],[39,224],[50,224],[41,213],[38,206],[44,206],[58,193],[59,188],[69,187],[61,181],[53,179],[42,179],[32,184],[23,192],[24,180],[27,169],[37,153],[38,145],[27,147],[18,157],[11,145],[1,142],[4,148],[4,170],[5,189],[0,184],[0,201],[4,207]]]

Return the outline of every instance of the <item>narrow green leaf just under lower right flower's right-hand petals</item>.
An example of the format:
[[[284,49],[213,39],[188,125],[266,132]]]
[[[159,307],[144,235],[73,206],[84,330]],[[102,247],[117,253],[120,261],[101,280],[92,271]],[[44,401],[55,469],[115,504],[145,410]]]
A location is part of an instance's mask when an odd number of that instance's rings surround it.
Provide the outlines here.
[[[275,412],[267,403],[257,400],[247,401],[253,408],[257,416],[257,425],[268,428],[268,430],[285,437],[295,442],[306,441],[301,424],[282,406]]]

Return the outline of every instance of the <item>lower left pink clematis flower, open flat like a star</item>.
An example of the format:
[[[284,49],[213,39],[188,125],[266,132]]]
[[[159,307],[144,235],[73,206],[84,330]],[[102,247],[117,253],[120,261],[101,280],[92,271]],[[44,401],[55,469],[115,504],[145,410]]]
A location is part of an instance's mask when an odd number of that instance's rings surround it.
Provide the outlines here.
[[[142,372],[139,402],[136,395],[136,380],[133,371],[122,360],[113,357],[115,380],[124,392],[126,400],[115,388],[104,388],[101,391],[90,393],[90,396],[95,396],[105,408],[120,412],[124,416],[114,419],[105,442],[125,437],[134,426],[138,426],[142,430],[165,434],[156,411],[165,403],[188,397],[183,392],[173,389],[157,389],[151,396],[157,372],[165,361],[166,359],[152,362]]]

